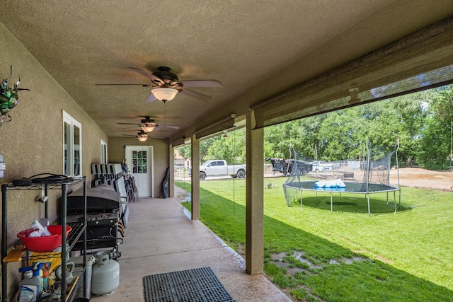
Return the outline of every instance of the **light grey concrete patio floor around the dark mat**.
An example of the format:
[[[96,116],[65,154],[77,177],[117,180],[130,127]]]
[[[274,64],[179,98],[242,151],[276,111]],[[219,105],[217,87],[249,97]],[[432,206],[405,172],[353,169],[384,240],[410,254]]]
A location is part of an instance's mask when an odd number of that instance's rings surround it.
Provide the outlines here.
[[[120,245],[120,286],[91,301],[144,301],[142,279],[150,274],[211,267],[236,301],[292,301],[263,275],[245,271],[245,260],[201,221],[192,221],[178,199],[140,198],[129,204]]]

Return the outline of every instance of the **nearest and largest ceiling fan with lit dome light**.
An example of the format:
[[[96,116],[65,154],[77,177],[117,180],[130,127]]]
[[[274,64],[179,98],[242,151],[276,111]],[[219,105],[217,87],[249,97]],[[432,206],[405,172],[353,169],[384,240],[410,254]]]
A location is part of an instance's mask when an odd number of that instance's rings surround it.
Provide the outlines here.
[[[149,84],[96,84],[98,86],[105,85],[141,85],[143,87],[151,87],[151,94],[147,98],[147,102],[161,100],[166,103],[168,100],[173,100],[177,93],[183,93],[192,98],[200,100],[209,100],[211,97],[193,90],[188,87],[222,87],[222,83],[217,80],[188,80],[179,81],[178,75],[171,72],[171,68],[160,66],[157,71],[150,72],[147,70],[129,67],[137,71],[139,74],[146,76],[151,80]]]

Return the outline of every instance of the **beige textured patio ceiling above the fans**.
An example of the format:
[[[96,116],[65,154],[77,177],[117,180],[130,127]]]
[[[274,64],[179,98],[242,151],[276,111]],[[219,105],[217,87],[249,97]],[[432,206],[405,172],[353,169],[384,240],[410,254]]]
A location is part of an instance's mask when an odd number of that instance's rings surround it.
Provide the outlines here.
[[[108,134],[150,115],[188,136],[302,81],[453,14],[451,0],[3,0],[0,21]],[[164,105],[129,67],[171,67],[180,81],[216,79]],[[126,129],[127,128],[127,129]],[[133,133],[133,132],[132,132]]]

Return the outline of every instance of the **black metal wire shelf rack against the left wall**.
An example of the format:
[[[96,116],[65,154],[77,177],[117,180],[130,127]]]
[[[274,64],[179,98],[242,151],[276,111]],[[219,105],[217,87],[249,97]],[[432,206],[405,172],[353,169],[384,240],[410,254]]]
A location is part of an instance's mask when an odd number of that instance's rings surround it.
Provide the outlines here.
[[[84,220],[81,223],[67,223],[67,193],[69,187],[74,185],[79,185],[83,183],[84,186]],[[25,257],[28,257],[27,250],[21,250],[19,253],[20,257],[16,259],[12,257],[8,261],[5,261],[8,256],[8,202],[7,202],[7,192],[14,190],[45,190],[45,196],[47,196],[48,190],[62,190],[62,211],[61,211],[61,220],[62,220],[62,251],[61,252],[33,252],[33,257],[61,257],[62,267],[66,267],[67,255],[71,248],[74,248],[75,243],[79,240],[80,236],[84,236],[84,247],[83,247],[83,256],[84,256],[84,266],[82,272],[79,274],[84,274],[86,268],[86,177],[84,178],[64,178],[62,180],[57,180],[55,182],[40,182],[32,183],[31,185],[13,185],[13,183],[7,183],[1,185],[1,302],[8,302],[8,262],[20,261],[22,259],[23,252],[25,252]],[[48,204],[45,202],[45,217],[48,218],[49,209]],[[69,225],[72,228],[69,236],[66,236],[66,226]],[[69,248],[67,248],[67,244]],[[15,251],[15,250],[13,250]],[[13,252],[11,251],[11,252]],[[16,250],[17,253],[17,250]],[[86,274],[84,274],[84,289],[87,286]],[[79,278],[81,280],[81,278]],[[71,295],[67,297],[66,291],[62,290],[61,301],[72,301],[76,295],[76,289],[79,287],[80,281],[74,286],[74,289],[71,291]],[[62,289],[67,288],[66,284],[66,269],[62,269]]]

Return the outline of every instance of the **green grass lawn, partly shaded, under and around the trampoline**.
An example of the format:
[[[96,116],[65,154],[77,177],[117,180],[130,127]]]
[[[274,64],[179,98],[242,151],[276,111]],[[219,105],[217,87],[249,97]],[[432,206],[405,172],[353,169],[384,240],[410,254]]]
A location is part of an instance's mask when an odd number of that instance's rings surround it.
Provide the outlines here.
[[[334,194],[333,213],[327,193],[287,207],[284,180],[263,184],[265,274],[294,301],[453,301],[451,192],[403,187],[396,214],[371,194],[369,216],[362,194]],[[246,180],[200,182],[201,221],[241,254],[245,204]]]

